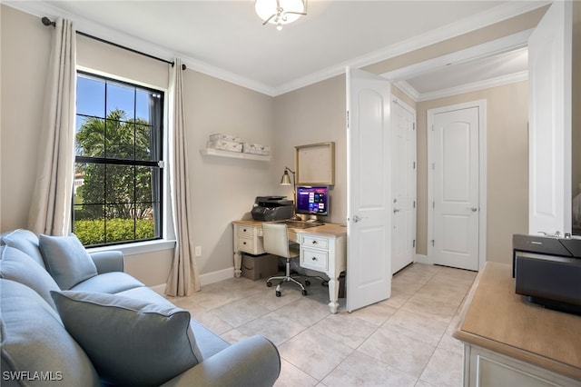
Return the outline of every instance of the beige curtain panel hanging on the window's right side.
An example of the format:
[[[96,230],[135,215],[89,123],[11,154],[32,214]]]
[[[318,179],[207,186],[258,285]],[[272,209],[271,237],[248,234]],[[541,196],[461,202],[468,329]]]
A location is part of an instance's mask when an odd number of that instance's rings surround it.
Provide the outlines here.
[[[189,184],[188,146],[183,103],[182,60],[176,58],[170,75],[170,190],[176,246],[165,293],[191,295],[200,290],[198,269],[192,252],[192,194]]]

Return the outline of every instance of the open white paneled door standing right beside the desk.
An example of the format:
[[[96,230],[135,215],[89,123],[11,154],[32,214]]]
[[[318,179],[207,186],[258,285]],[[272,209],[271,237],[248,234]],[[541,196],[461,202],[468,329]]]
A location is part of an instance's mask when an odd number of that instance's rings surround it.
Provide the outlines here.
[[[390,84],[347,69],[347,311],[391,295]]]

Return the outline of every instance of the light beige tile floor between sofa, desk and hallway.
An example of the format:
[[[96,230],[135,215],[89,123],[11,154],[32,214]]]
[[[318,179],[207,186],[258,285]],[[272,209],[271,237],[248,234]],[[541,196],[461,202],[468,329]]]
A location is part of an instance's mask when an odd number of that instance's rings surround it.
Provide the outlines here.
[[[391,298],[353,313],[311,281],[309,295],[285,283],[231,278],[170,299],[228,342],[261,334],[281,352],[276,386],[461,386],[460,342],[452,338],[474,272],[413,263],[392,280]]]

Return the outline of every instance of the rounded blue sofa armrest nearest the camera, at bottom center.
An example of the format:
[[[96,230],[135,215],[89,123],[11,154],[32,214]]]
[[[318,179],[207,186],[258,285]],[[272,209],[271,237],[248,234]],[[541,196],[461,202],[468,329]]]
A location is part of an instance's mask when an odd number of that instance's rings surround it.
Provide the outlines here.
[[[272,386],[281,374],[281,356],[263,336],[251,336],[182,372],[162,387]]]

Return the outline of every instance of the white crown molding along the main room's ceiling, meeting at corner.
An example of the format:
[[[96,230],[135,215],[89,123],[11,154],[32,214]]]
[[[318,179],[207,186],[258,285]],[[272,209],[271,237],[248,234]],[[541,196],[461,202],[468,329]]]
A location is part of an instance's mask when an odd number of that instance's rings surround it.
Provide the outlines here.
[[[397,55],[402,55],[428,45],[434,45],[438,42],[458,35],[467,34],[471,31],[478,30],[479,28],[486,27],[487,25],[493,25],[495,23],[527,13],[550,3],[551,2],[549,1],[539,1],[536,3],[520,1],[507,2],[503,5],[498,5],[486,12],[474,15],[457,23],[445,25],[426,34],[413,37],[403,42],[399,42],[398,44],[389,45],[369,53],[368,55],[362,55],[350,61],[346,61],[338,65],[332,65],[286,84],[271,86],[238,74],[233,74],[230,71],[226,71],[214,65],[209,65],[190,56],[181,55],[181,53],[175,53],[172,50],[168,50],[167,48],[164,48],[160,45],[154,45],[151,42],[144,41],[143,39],[140,39],[136,36],[127,35],[113,28],[96,24],[84,17],[64,12],[62,9],[47,2],[15,0],[3,1],[3,4],[5,5],[13,7],[27,14],[36,15],[38,17],[47,16],[51,19],[59,16],[65,17],[74,22],[75,28],[77,30],[83,31],[86,34],[99,36],[100,38],[110,40],[116,44],[125,45],[143,53],[157,56],[168,61],[172,61],[174,57],[178,56],[182,58],[183,64],[187,65],[189,68],[195,71],[199,71],[202,74],[211,75],[213,77],[222,79],[223,81],[230,82],[232,84],[238,84],[242,87],[246,87],[261,94],[267,94],[270,96],[285,94],[301,87],[329,79],[330,77],[345,74],[345,68],[348,65],[355,68],[372,65]]]

